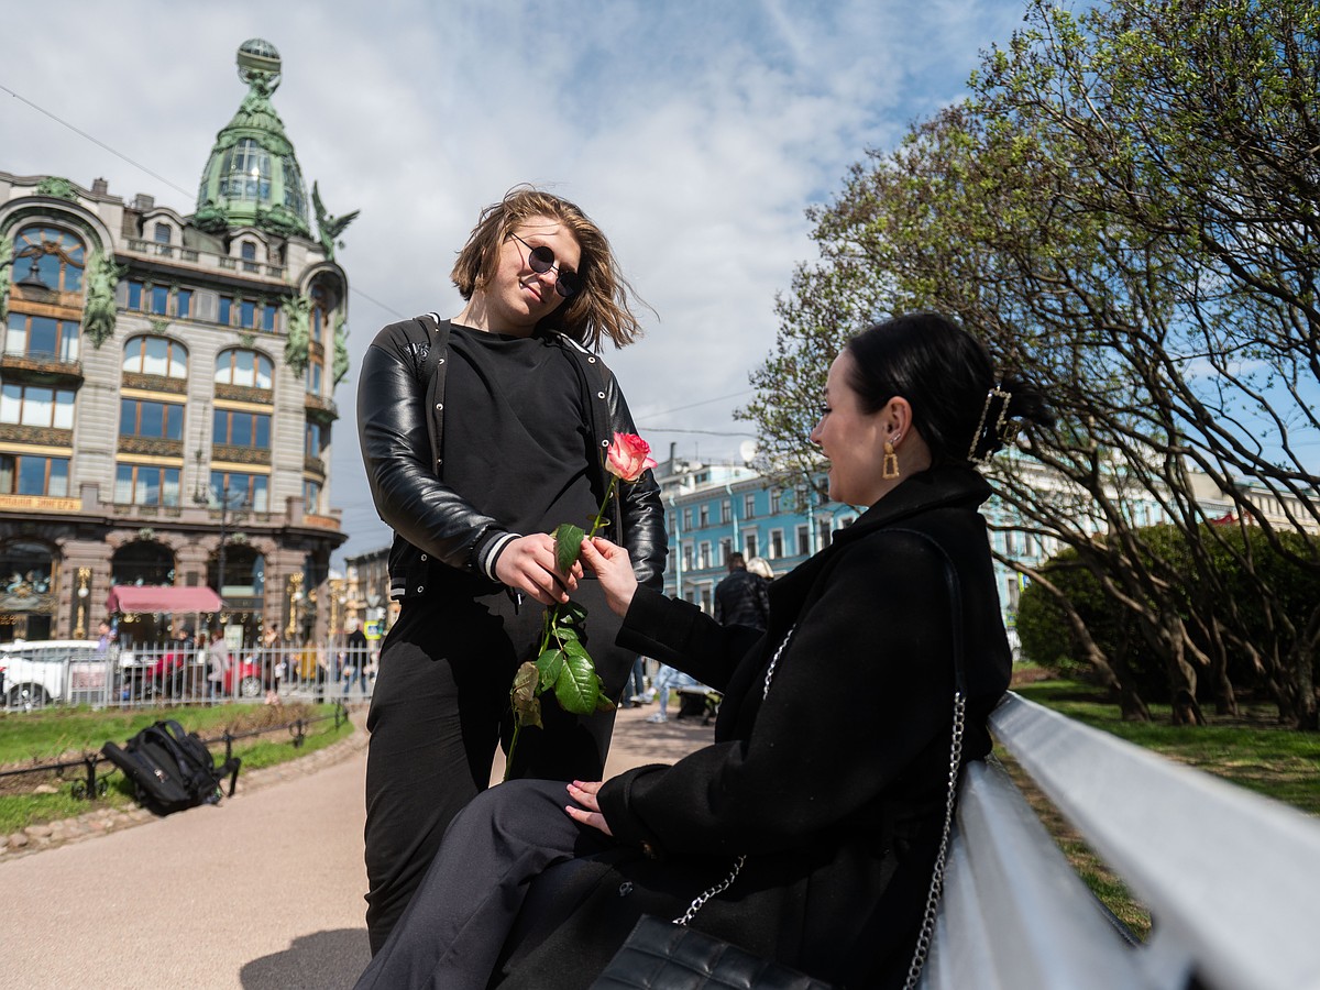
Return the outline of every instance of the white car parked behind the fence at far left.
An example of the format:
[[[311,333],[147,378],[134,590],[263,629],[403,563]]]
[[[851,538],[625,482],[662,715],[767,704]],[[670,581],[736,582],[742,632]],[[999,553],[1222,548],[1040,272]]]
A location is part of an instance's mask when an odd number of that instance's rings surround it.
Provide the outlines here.
[[[104,701],[114,656],[94,639],[50,639],[0,645],[0,690],[11,709],[54,702]]]

